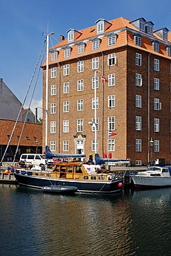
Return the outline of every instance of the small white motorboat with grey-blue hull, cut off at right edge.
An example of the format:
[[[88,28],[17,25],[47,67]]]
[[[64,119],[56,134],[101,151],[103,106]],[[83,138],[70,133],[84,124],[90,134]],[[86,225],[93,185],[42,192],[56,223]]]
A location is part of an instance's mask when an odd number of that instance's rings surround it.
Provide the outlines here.
[[[152,189],[171,187],[171,167],[151,166],[145,172],[131,175],[135,188]]]

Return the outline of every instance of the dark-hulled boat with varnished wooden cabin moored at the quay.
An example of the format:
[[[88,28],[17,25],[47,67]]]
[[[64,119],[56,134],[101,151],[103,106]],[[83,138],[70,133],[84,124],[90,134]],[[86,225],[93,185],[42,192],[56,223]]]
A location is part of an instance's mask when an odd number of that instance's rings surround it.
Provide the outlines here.
[[[78,162],[56,163],[52,170],[20,170],[14,176],[20,185],[32,188],[44,186],[72,186],[78,192],[112,194],[122,191],[122,179],[113,172],[106,172],[101,165]]]

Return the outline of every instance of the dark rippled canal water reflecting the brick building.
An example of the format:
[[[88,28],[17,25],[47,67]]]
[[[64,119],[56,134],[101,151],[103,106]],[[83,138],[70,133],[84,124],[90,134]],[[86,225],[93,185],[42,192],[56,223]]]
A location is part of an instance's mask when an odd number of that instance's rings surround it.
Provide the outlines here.
[[[63,196],[1,184],[0,255],[171,255],[171,188]]]

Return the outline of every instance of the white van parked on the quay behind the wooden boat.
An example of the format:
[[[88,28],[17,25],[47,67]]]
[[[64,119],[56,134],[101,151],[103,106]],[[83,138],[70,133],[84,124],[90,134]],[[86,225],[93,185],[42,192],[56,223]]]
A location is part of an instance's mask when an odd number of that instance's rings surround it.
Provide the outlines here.
[[[46,158],[42,154],[21,154],[19,161],[30,165],[46,165]]]

